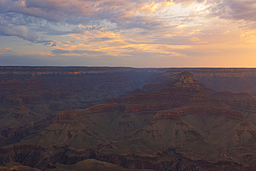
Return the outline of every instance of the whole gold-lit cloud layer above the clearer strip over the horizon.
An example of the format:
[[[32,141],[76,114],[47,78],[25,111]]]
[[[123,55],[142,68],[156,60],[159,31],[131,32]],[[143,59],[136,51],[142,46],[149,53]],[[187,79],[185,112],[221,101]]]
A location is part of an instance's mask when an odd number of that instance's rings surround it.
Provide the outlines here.
[[[255,0],[0,0],[0,35],[35,42],[40,57],[201,57],[256,42],[255,16]]]

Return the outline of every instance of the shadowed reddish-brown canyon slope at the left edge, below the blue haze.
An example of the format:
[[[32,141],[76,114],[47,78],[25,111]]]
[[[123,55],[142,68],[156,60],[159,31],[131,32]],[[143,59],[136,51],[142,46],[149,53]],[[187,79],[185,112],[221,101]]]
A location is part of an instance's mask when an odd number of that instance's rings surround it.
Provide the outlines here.
[[[0,117],[1,147],[44,129],[52,120],[51,115],[39,114],[25,107],[21,98],[10,97],[3,99]]]

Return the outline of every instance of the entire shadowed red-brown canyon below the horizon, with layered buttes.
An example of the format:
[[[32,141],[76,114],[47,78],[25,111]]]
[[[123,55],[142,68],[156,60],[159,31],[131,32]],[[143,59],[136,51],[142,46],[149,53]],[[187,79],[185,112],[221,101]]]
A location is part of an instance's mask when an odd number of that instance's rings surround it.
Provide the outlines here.
[[[255,170],[255,77],[256,69],[1,67],[0,170]]]

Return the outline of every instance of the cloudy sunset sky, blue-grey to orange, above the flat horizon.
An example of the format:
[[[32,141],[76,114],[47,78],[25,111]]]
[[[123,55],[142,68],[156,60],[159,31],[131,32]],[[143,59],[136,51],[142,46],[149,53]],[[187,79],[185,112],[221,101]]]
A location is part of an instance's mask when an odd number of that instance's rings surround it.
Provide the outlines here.
[[[256,67],[256,1],[0,0],[0,65]]]

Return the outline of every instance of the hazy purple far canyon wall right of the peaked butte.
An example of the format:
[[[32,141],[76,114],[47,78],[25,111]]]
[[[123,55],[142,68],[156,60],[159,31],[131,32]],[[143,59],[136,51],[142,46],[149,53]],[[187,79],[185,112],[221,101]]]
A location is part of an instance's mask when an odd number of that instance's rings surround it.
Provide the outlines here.
[[[252,95],[255,95],[256,92],[256,69],[243,68],[172,68],[168,69],[165,74],[163,74],[164,70],[159,70],[147,80],[147,84],[158,77],[166,76],[170,73],[177,74],[183,71],[189,71],[200,82],[203,82],[206,87],[215,91],[246,91]]]

